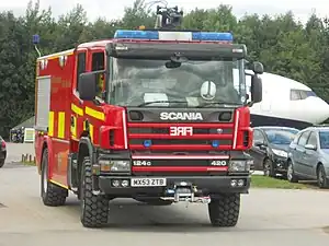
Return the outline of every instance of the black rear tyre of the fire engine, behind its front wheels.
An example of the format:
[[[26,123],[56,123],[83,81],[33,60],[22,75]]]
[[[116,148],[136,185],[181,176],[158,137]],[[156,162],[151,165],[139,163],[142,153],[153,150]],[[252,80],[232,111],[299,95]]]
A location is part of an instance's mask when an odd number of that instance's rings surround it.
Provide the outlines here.
[[[41,197],[45,206],[64,206],[68,190],[48,180],[48,150],[44,150],[42,160]]]

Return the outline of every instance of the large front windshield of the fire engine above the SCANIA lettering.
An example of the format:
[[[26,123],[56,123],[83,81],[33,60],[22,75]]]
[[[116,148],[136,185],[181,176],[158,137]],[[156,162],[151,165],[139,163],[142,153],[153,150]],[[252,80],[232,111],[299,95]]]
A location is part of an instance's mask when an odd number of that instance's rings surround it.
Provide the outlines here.
[[[246,99],[243,60],[188,60],[174,68],[166,66],[168,60],[111,60],[109,101],[113,105],[216,107],[216,102],[240,105]]]

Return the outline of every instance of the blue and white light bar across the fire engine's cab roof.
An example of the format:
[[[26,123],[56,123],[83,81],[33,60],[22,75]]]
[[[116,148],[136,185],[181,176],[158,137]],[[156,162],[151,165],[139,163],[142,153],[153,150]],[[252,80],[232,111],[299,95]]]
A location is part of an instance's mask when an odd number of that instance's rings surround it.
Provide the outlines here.
[[[175,34],[178,38],[175,38]],[[184,38],[182,38],[182,36]],[[161,31],[128,31],[117,30],[114,38],[148,39],[148,40],[200,40],[200,42],[232,42],[231,33],[207,32],[161,32]]]

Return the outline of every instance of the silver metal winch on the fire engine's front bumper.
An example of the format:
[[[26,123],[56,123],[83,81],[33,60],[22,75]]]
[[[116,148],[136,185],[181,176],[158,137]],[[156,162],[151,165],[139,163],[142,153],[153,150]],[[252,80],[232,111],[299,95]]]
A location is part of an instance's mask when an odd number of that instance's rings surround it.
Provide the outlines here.
[[[200,196],[198,196],[200,195]],[[181,181],[174,184],[173,188],[168,188],[166,190],[166,197],[161,197],[162,200],[171,200],[173,202],[201,202],[201,203],[209,203],[209,196],[202,196],[198,192],[197,188],[193,186],[191,183]]]

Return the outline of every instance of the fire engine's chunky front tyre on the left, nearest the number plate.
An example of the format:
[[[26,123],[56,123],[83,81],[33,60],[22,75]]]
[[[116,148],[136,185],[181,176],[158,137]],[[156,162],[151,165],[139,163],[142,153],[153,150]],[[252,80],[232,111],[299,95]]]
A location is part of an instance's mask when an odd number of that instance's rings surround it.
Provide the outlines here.
[[[101,227],[107,224],[110,200],[92,192],[90,157],[84,157],[80,180],[81,223],[84,227]]]

